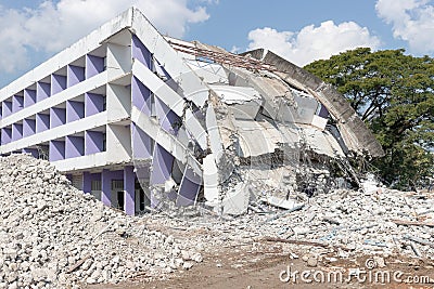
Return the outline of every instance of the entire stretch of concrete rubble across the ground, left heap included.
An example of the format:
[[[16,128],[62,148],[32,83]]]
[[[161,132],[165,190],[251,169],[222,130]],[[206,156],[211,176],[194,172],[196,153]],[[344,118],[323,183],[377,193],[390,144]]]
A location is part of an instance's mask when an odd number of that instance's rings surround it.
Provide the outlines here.
[[[283,254],[310,267],[363,255],[374,255],[379,266],[394,258],[434,259],[429,194],[334,189],[297,198],[302,205],[291,209],[256,201],[237,216],[127,216],[74,188],[48,161],[2,157],[0,288],[150,283],[240,249],[255,260]]]

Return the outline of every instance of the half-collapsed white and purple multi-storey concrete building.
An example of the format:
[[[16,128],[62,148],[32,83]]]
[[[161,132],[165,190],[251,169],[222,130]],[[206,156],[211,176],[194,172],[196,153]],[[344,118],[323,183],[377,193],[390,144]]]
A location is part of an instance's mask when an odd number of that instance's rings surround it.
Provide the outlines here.
[[[135,214],[283,208],[381,146],[331,86],[266,50],[162,36],[129,9],[0,90],[0,153],[46,158]],[[322,184],[322,188],[321,188]]]

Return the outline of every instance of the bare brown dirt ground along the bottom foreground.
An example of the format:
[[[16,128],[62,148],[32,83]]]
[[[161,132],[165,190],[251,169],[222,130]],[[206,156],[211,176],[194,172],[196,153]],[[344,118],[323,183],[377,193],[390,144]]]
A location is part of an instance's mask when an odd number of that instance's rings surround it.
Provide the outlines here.
[[[178,271],[169,279],[149,281],[144,273],[115,286],[90,288],[434,288],[434,264],[427,260],[395,255],[384,260],[385,267],[375,265],[367,270],[372,257],[339,258],[329,252],[318,259],[318,264],[310,264],[315,266],[307,266],[302,257],[309,247],[291,245],[290,252],[281,248],[270,242],[255,250],[251,245],[221,248],[204,254],[202,263],[189,271]],[[360,279],[352,275],[348,280],[356,268],[360,270]],[[289,270],[293,274],[290,280]]]

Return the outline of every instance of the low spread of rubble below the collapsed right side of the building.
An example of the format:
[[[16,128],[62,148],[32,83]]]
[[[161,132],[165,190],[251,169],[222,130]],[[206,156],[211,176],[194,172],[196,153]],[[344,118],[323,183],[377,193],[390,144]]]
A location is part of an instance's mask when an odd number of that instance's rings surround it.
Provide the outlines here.
[[[294,246],[305,242],[307,247],[302,248],[327,248],[341,258],[380,254],[434,260],[434,198],[430,195],[385,188],[334,189],[310,198],[298,194],[297,199],[288,210],[251,203],[247,214],[220,221],[209,215],[180,220],[154,214],[149,219],[189,232],[195,248],[203,251],[271,240]]]

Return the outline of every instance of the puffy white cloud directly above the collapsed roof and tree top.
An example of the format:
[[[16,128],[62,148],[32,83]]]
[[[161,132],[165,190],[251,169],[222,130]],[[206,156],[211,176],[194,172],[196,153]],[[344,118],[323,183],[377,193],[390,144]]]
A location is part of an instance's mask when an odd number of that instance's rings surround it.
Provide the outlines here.
[[[297,32],[258,28],[248,32],[248,49],[271,50],[298,66],[358,47],[376,49],[380,45],[379,38],[368,28],[354,22],[335,25],[332,21],[323,22],[319,27],[306,26]]]

